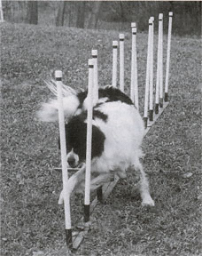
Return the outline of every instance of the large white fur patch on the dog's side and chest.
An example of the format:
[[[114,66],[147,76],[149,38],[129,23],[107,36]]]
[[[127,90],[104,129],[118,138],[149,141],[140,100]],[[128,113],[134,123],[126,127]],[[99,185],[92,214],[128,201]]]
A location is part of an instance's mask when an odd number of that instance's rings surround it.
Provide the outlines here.
[[[94,125],[105,134],[105,149],[94,162],[93,170],[106,172],[114,170],[116,166],[125,170],[142,156],[142,117],[134,106],[120,101],[107,102],[96,109],[107,115],[108,119],[106,123],[98,118],[94,121]]]

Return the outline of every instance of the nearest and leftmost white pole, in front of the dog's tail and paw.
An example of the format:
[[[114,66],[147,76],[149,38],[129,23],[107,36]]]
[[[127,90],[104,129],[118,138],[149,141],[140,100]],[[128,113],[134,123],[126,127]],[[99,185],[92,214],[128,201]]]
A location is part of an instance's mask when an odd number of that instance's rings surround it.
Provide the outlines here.
[[[65,132],[65,117],[62,99],[62,71],[55,71],[55,78],[58,92],[58,124],[59,124],[59,140],[61,148],[61,162],[62,162],[62,180],[64,191],[64,208],[65,208],[65,222],[66,222],[66,245],[67,248],[73,247],[72,241],[72,227],[71,227],[71,212],[70,212],[70,195],[68,193],[68,171],[66,160],[66,132]]]

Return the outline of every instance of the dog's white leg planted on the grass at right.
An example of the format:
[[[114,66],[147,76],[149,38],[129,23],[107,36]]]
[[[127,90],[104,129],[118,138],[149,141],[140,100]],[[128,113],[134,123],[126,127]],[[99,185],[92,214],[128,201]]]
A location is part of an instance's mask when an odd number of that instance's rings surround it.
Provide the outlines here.
[[[136,158],[136,163],[134,164],[134,167],[136,169],[136,173],[140,178],[139,181],[139,190],[140,190],[140,196],[142,198],[142,205],[151,205],[154,206],[154,201],[151,198],[150,190],[149,190],[149,183],[146,178],[146,174],[143,169],[143,165],[140,163],[140,160]]]

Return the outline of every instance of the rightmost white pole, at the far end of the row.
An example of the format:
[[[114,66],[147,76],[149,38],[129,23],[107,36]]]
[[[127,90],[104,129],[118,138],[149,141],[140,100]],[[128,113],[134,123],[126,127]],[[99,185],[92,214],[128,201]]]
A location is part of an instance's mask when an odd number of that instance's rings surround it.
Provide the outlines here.
[[[170,44],[171,44],[171,32],[172,32],[172,19],[173,19],[173,12],[169,12],[168,36],[167,36],[167,71],[166,71],[166,85],[165,85],[165,101],[168,101],[168,79],[169,79],[169,68],[170,68]]]

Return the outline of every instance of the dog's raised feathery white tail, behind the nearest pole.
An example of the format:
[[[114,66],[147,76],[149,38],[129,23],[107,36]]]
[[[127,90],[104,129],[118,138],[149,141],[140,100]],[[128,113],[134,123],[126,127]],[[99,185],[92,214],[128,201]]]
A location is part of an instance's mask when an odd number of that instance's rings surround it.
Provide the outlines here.
[[[54,95],[57,95],[57,84],[54,80],[44,81],[47,87]],[[62,84],[63,93],[63,108],[65,118],[74,115],[80,105],[77,97],[77,92],[73,88]],[[36,112],[36,116],[43,122],[56,122],[58,121],[58,100],[50,100],[48,103],[43,103],[41,108]]]

